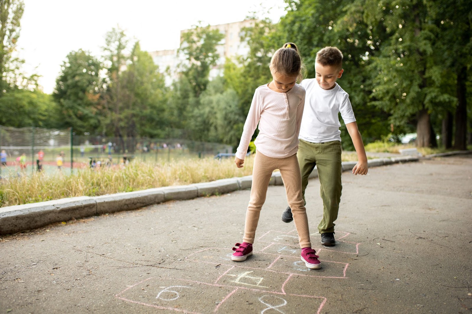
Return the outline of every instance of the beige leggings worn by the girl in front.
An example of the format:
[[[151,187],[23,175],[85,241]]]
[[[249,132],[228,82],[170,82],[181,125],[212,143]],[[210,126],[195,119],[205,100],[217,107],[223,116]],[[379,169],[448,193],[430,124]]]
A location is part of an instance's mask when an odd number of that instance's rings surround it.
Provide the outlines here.
[[[308,218],[302,198],[302,177],[296,154],[286,158],[272,158],[256,151],[253,168],[253,184],[251,199],[247,206],[246,224],[244,226],[244,242],[254,243],[257,223],[264,205],[270,177],[275,169],[280,170],[287,193],[287,202],[292,209],[300,248],[311,248]]]

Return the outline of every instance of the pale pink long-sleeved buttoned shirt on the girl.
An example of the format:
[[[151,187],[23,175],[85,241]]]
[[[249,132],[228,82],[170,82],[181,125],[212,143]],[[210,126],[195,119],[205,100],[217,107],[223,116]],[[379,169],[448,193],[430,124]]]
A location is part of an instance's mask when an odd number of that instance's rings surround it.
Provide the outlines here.
[[[305,89],[298,84],[286,93],[272,91],[268,84],[259,86],[254,92],[236,157],[244,159],[246,156],[257,124],[259,134],[254,143],[258,151],[272,158],[295,154],[304,105]]]

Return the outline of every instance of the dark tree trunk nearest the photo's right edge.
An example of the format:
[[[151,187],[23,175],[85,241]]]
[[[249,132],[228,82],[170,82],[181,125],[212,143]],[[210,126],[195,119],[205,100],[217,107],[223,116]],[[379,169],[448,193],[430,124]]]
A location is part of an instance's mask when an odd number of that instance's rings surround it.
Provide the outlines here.
[[[457,73],[457,107],[455,108],[455,137],[454,149],[465,150],[466,133],[467,133],[467,88],[465,82],[467,81],[467,67],[462,67]]]

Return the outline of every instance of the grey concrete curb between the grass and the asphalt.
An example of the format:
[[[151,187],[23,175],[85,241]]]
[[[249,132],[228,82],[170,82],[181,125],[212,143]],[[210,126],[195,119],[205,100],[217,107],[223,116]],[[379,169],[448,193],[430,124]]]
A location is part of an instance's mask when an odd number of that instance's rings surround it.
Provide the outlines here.
[[[459,151],[457,154],[468,154],[472,151]],[[451,156],[454,152],[434,154],[422,158]],[[368,160],[369,167],[391,165],[418,161],[419,157],[400,156],[392,158],[377,158]],[[343,162],[342,170],[351,171],[356,162]],[[309,178],[318,177],[318,170],[313,170]],[[170,200],[191,199],[202,196],[220,195],[235,190],[250,189],[252,175],[221,179],[213,182],[194,183],[183,186],[168,186],[162,188],[102,195],[96,197],[62,198],[47,202],[15,205],[0,208],[0,235],[31,230],[49,223],[65,222],[71,219],[102,215],[122,210],[132,210],[151,204]],[[279,172],[274,172],[269,185],[283,185]]]

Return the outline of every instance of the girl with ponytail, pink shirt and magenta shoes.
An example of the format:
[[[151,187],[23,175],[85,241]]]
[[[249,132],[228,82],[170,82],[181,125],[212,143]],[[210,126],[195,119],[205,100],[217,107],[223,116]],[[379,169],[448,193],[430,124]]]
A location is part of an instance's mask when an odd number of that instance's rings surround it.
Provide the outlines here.
[[[273,80],[256,89],[253,102],[244,124],[235,163],[243,167],[249,142],[259,124],[259,135],[255,140],[256,156],[253,167],[251,198],[246,211],[244,237],[231,259],[244,261],[253,254],[253,243],[262,205],[272,172],[280,170],[285,184],[287,201],[293,208],[295,227],[298,232],[301,258],[306,267],[320,268],[320,261],[312,249],[308,219],[303,206],[302,179],[296,158],[298,133],[302,121],[305,90],[296,81],[303,79],[302,59],[294,43],[286,43],[270,60]]]

